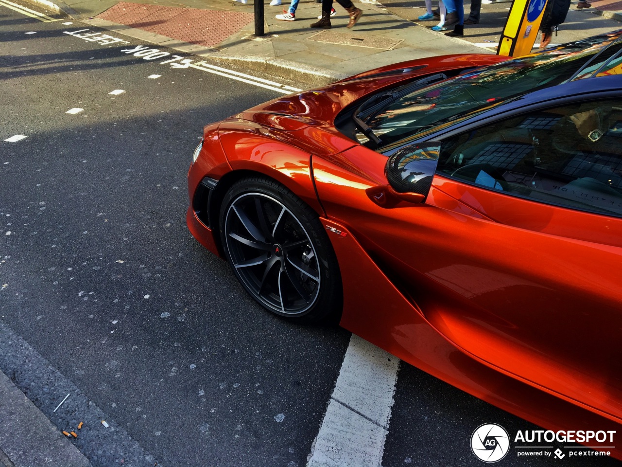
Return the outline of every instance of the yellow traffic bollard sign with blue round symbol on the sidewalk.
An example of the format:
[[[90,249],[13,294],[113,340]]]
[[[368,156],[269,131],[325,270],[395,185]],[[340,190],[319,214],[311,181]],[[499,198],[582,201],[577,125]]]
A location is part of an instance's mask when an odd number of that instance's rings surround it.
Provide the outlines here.
[[[514,0],[503,27],[497,55],[520,57],[531,54],[538,37],[547,0]]]

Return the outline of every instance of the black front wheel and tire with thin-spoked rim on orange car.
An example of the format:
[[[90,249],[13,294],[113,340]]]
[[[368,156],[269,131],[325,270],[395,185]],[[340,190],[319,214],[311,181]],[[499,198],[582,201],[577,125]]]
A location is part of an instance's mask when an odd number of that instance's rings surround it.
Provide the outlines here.
[[[246,291],[274,314],[315,322],[341,313],[337,257],[318,215],[271,179],[233,184],[220,210],[220,238]]]

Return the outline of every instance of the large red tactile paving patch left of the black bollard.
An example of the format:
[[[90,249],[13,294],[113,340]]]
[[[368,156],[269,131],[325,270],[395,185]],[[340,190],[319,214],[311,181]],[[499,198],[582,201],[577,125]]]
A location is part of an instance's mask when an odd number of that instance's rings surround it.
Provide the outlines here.
[[[253,13],[119,2],[97,16],[108,21],[213,47],[254,21]]]

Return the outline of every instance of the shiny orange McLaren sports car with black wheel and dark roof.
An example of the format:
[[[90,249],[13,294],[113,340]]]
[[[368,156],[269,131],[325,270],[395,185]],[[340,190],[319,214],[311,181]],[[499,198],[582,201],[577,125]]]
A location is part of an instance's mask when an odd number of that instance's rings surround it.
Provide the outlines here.
[[[621,64],[622,30],[269,101],[205,126],[188,227],[272,313],[622,458]]]

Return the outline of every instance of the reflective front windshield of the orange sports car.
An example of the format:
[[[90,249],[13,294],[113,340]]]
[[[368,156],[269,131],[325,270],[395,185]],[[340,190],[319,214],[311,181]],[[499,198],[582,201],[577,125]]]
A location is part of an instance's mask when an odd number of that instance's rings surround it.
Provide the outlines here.
[[[442,80],[429,86],[420,82],[381,93],[355,110],[356,138],[379,148],[434,128],[499,101],[552,87],[573,78],[592,76],[616,56],[621,31],[578,40],[540,54],[527,55]],[[611,44],[613,47],[609,47]],[[586,72],[582,72],[585,68]],[[592,73],[587,73],[589,70]],[[381,101],[378,104],[378,101]],[[369,103],[373,105],[369,105]]]

